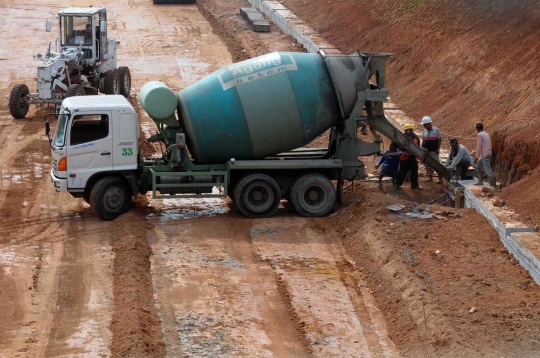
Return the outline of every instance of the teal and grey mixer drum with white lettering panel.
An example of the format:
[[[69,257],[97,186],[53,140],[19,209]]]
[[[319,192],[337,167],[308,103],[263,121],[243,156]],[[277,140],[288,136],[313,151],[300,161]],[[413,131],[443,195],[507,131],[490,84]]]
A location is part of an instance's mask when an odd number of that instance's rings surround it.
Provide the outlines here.
[[[227,66],[178,93],[198,163],[262,159],[302,147],[341,119],[322,56],[270,53]]]

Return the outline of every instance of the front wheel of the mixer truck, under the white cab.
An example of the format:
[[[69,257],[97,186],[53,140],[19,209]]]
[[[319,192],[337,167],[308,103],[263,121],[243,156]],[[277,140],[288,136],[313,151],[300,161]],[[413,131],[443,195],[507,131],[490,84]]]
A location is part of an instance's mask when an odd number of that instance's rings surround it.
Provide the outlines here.
[[[90,192],[90,206],[101,220],[114,220],[129,211],[131,191],[120,177],[105,177]]]

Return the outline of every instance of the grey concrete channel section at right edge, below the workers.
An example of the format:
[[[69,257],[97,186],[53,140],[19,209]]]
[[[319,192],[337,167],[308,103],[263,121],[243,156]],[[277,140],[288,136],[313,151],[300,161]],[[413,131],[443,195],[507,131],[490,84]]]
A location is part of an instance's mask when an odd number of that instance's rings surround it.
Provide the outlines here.
[[[475,181],[460,181],[471,184]],[[474,208],[486,218],[497,231],[504,247],[511,253],[540,285],[540,234],[531,227],[511,227],[503,224],[477,197],[465,186],[465,207]]]

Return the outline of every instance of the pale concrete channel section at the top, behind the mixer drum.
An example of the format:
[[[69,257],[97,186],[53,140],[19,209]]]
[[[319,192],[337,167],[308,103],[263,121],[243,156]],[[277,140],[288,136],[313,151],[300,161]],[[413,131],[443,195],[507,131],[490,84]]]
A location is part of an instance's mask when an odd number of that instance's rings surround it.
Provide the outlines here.
[[[248,2],[278,26],[281,31],[296,39],[308,52],[317,53],[319,50],[323,50],[325,53],[340,53],[334,46],[320,37],[317,31],[300,20],[278,1],[248,0]]]

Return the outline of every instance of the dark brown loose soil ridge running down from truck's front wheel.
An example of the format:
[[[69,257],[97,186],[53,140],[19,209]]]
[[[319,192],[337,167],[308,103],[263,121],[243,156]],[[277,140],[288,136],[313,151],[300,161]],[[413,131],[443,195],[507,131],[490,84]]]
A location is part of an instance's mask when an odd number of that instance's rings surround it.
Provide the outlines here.
[[[146,218],[128,212],[112,223],[114,311],[111,357],[165,357],[150,274]]]

